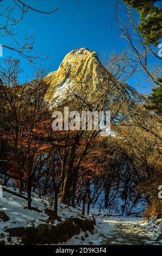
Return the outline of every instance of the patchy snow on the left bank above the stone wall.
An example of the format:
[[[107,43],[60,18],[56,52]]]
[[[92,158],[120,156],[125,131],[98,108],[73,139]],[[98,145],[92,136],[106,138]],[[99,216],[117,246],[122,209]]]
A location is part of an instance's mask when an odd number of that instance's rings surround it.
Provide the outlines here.
[[[8,188],[8,190],[20,193],[15,188]],[[24,196],[27,196],[26,193],[23,193]],[[50,204],[49,204],[50,203]],[[52,202],[53,203],[53,202]],[[34,225],[37,227],[41,223],[45,223],[48,220],[49,216],[45,213],[45,209],[52,209],[52,203],[49,202],[48,198],[39,198],[35,193],[32,194],[32,207],[38,208],[41,212],[35,210],[27,209],[27,201],[14,196],[8,192],[3,192],[3,197],[0,198],[0,212],[5,212],[9,216],[9,220],[6,222],[1,221],[0,219],[0,242],[5,240],[6,244],[18,244],[18,238],[12,237],[12,243],[8,243],[7,236],[8,233],[4,230],[7,228],[14,227],[28,227]],[[58,216],[60,221],[64,221],[67,217],[75,216],[81,217],[80,213],[82,212],[79,208],[72,208],[63,203],[58,203]],[[54,220],[53,225],[56,225],[58,220]],[[4,238],[1,234],[5,235]]]

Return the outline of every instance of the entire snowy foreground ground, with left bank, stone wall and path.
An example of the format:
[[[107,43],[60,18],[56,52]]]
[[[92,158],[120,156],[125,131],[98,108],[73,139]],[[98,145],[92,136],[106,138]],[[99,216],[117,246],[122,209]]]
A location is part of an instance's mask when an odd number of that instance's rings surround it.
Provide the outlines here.
[[[13,188],[10,190],[16,191]],[[32,205],[35,206],[35,210],[28,210],[24,200],[3,192],[3,198],[0,201],[0,245],[35,245],[36,243],[54,245],[57,243],[59,234],[61,235],[63,223],[70,218],[73,218],[74,222],[77,218],[80,221],[85,220],[85,217],[92,220],[92,216],[96,218],[94,230],[93,228],[86,230],[84,227],[80,232],[79,229],[75,229],[73,235],[68,233],[68,241],[66,241],[66,237],[63,237],[58,243],[65,245],[78,245],[78,243],[79,245],[162,244],[161,219],[158,220],[154,217],[150,221],[141,221],[141,218],[135,217],[114,217],[104,214],[104,212],[98,214],[97,209],[92,210],[91,216],[84,217],[80,214],[80,208],[67,207],[60,202],[57,217],[53,214],[49,198],[40,199],[34,193],[32,197]],[[60,227],[59,223],[62,223]],[[46,226],[48,236],[46,235]],[[55,238],[51,227],[57,227],[57,237]]]

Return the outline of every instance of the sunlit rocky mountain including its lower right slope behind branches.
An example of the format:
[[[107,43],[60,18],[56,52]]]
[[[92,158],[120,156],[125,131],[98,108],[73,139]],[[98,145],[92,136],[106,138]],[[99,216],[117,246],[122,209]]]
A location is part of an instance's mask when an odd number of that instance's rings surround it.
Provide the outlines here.
[[[88,48],[78,48],[68,53],[57,71],[50,72],[44,81],[48,84],[45,100],[53,107],[62,105],[63,101],[72,99],[74,94],[86,94],[86,99],[94,97],[96,92],[102,92],[102,87],[109,86],[113,75],[98,59],[98,53]],[[115,81],[117,83],[117,81]],[[121,101],[121,92],[127,101],[138,102],[142,99],[134,88],[124,83],[120,90],[110,93],[108,102]],[[114,103],[115,103],[114,102]]]

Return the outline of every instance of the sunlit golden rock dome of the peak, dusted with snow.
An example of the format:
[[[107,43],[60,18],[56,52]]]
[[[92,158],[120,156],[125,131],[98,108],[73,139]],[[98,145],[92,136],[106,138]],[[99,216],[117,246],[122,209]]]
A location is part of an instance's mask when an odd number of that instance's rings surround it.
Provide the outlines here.
[[[94,92],[103,81],[107,71],[99,62],[98,53],[88,48],[78,48],[68,53],[57,71],[49,73],[45,82],[49,89],[45,95],[49,103],[61,102],[66,93],[86,88]]]

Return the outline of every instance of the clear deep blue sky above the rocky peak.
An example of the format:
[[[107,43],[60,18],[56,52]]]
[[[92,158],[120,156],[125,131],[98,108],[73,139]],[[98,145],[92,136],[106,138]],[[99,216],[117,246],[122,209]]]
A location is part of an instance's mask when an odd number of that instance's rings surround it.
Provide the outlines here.
[[[11,0],[5,0],[11,3]],[[45,15],[28,11],[24,19],[16,26],[16,40],[21,42],[27,34],[35,34],[34,51],[49,54],[47,60],[40,63],[57,70],[65,55],[78,47],[88,47],[96,51],[99,57],[107,55],[114,49],[120,52],[126,47],[126,40],[119,38],[119,29],[114,17],[115,0],[36,0],[26,1],[39,10],[51,10],[59,7],[53,14]],[[33,3],[34,2],[34,3]],[[1,38],[0,43],[9,43],[11,38]],[[3,58],[7,56],[20,58],[17,53],[4,49]],[[32,67],[26,59],[21,59],[24,74],[30,76]],[[39,65],[38,63],[37,65]],[[35,64],[36,65],[36,64]],[[136,79],[129,80],[130,86],[135,87]],[[140,92],[148,92],[148,88],[137,88]]]

